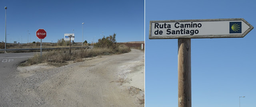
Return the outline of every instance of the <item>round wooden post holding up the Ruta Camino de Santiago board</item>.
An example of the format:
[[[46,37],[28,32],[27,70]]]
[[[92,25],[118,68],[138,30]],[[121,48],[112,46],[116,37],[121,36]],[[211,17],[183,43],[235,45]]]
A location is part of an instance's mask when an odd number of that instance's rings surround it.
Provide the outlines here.
[[[191,39],[178,39],[178,107],[191,107]]]

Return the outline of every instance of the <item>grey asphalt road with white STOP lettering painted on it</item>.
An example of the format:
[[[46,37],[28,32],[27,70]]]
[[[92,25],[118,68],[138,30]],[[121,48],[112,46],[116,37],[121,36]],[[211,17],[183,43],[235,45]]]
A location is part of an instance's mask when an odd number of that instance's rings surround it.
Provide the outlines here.
[[[10,103],[22,101],[26,96],[16,95],[19,77],[17,66],[28,60],[35,53],[2,53],[0,54],[0,107],[12,106]]]

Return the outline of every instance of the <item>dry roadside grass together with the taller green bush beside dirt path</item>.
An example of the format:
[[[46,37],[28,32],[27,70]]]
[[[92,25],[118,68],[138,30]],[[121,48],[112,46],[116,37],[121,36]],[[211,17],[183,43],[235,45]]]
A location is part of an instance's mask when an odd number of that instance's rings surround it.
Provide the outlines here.
[[[59,40],[58,45],[66,45],[64,40]],[[85,42],[84,42],[85,43]],[[87,43],[86,43],[87,45]],[[89,45],[89,44],[88,44]],[[130,52],[130,48],[126,45],[116,43],[116,34],[110,35],[109,37],[103,37],[98,39],[97,43],[94,43],[93,49],[79,49],[72,50],[69,53],[68,50],[54,50],[42,54],[36,54],[34,57],[30,58],[20,66],[30,66],[33,64],[40,64],[47,62],[53,66],[63,66],[67,64],[67,61],[73,60],[74,62],[83,61],[82,58],[101,56],[101,55],[112,55],[112,54],[122,54]]]

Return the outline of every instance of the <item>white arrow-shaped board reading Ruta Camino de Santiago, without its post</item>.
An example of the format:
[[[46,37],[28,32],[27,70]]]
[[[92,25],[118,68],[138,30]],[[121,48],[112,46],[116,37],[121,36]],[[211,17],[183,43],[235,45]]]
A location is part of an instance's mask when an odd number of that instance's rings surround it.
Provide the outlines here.
[[[244,37],[252,29],[243,18],[150,21],[149,39]]]

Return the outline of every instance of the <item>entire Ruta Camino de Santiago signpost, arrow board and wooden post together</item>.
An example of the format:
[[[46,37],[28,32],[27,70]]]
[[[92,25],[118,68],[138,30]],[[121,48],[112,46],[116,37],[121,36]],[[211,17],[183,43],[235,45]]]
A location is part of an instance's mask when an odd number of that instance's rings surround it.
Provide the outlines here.
[[[244,37],[243,18],[150,21],[149,39],[178,39],[178,107],[191,107],[191,39]]]

